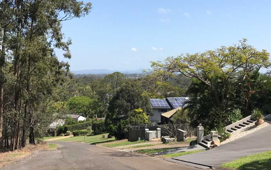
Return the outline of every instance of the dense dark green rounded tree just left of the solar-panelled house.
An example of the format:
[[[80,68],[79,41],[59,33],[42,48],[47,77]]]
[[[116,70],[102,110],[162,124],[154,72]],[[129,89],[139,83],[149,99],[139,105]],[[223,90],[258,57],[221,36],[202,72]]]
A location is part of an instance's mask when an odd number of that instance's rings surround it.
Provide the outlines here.
[[[110,135],[124,139],[127,137],[129,125],[148,123],[147,115],[152,110],[150,99],[143,95],[143,92],[140,84],[135,82],[127,82],[116,92],[109,103],[109,113],[106,115]]]

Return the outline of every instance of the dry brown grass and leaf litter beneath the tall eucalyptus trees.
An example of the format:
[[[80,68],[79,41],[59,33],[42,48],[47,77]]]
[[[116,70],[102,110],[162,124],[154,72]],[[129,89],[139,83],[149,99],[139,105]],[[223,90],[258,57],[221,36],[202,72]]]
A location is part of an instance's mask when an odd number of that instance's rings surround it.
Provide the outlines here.
[[[50,147],[46,142],[42,142],[36,145],[27,144],[24,148],[15,151],[0,152],[0,168],[14,163],[31,155],[34,151],[39,150],[56,150],[56,147]]]

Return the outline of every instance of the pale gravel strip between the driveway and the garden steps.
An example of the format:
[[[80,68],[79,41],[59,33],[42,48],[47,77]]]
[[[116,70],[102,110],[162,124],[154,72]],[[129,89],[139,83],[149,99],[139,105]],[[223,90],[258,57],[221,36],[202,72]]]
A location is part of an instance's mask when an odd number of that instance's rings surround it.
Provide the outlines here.
[[[221,142],[221,145],[228,143],[230,141],[236,140],[236,139],[243,137],[245,135],[248,135],[248,134],[255,132],[259,129],[262,129],[270,124],[271,124],[271,121],[265,120],[265,122],[259,126],[256,126],[254,123],[252,123],[251,125],[247,125],[244,129],[231,133],[231,137],[229,139],[226,139],[226,141]]]

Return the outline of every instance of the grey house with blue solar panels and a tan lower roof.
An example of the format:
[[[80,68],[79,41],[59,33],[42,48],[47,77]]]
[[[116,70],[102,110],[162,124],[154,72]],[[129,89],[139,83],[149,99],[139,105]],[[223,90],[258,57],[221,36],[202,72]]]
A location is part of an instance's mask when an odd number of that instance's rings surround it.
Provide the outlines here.
[[[151,123],[168,123],[172,119],[173,115],[179,109],[182,109],[188,101],[188,97],[173,97],[165,99],[151,98],[151,107],[153,111],[153,114],[150,116]],[[162,115],[167,115],[167,117],[163,116],[161,119]],[[163,120],[163,122],[161,122],[161,120]]]

